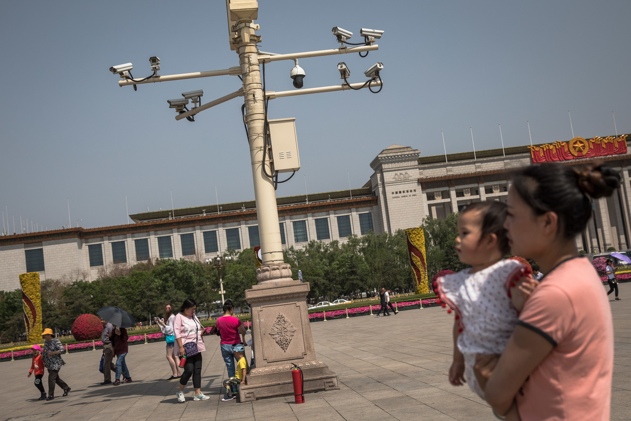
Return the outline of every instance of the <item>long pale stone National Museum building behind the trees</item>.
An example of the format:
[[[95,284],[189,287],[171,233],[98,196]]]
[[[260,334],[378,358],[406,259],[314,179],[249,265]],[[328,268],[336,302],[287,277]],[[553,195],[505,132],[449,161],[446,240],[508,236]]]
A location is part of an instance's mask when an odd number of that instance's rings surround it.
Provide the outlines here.
[[[576,238],[587,252],[629,246],[631,157],[627,135],[574,138],[535,146],[420,157],[410,146],[392,145],[370,162],[370,181],[359,189],[278,198],[283,247],[310,240],[394,233],[423,218],[445,218],[476,201],[506,201],[510,173],[533,162],[563,160],[583,165],[604,160],[622,175],[622,188],[594,201],[594,218]],[[20,287],[21,273],[42,279],[95,280],[116,265],[148,259],[213,258],[226,249],[259,246],[254,201],[130,215],[134,223],[68,228],[0,236],[0,290]]]

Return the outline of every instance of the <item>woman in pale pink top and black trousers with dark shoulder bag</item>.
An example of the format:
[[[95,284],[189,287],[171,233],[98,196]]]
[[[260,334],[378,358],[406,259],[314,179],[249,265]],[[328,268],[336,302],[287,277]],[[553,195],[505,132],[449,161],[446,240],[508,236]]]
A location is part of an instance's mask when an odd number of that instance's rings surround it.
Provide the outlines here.
[[[180,312],[175,316],[173,321],[173,331],[175,333],[175,343],[179,347],[179,355],[183,357],[186,355],[186,364],[184,364],[184,373],[180,376],[180,387],[177,390],[177,401],[185,402],[184,398],[184,386],[191,376],[193,377],[193,388],[195,388],[195,394],[193,396],[194,401],[205,401],[210,399],[210,396],[206,396],[201,393],[201,353],[206,350],[204,347],[204,333],[206,329],[201,326],[198,317],[195,315],[197,310],[197,303],[193,299],[184,300]],[[197,345],[198,353],[195,355],[187,355],[184,352],[184,345],[193,342]]]

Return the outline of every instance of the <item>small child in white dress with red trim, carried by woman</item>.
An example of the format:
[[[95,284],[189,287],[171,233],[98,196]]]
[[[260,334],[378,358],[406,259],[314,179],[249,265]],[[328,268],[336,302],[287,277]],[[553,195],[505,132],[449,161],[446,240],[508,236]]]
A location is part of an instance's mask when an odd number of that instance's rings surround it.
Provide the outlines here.
[[[536,287],[531,273],[510,252],[504,229],[506,205],[497,201],[468,205],[458,217],[456,252],[471,268],[437,279],[434,291],[453,309],[454,360],[449,382],[484,398],[473,374],[476,354],[502,353],[517,324],[529,292]],[[466,379],[466,380],[465,380]]]

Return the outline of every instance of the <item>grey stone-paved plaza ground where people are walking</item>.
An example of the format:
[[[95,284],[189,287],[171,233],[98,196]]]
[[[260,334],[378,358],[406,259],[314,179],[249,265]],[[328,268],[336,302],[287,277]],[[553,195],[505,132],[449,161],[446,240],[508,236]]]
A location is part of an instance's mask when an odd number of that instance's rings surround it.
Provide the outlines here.
[[[589,294],[588,292],[586,294]],[[631,283],[620,285],[619,302],[610,295],[615,328],[611,420],[631,419]],[[221,402],[227,376],[219,340],[206,338],[202,391],[207,401],[175,398],[163,342],[129,347],[129,384],[100,386],[100,351],[65,355],[61,377],[71,386],[62,398],[37,401],[27,379],[30,360],[0,363],[0,420],[493,420],[490,408],[464,387],[447,381],[451,364],[452,316],[440,307],[401,311],[396,316],[363,316],[310,324],[315,351],[339,376],[340,389],[249,403]],[[248,350],[249,355],[249,350]],[[47,379],[47,375],[44,376]],[[46,384],[46,383],[45,383]]]

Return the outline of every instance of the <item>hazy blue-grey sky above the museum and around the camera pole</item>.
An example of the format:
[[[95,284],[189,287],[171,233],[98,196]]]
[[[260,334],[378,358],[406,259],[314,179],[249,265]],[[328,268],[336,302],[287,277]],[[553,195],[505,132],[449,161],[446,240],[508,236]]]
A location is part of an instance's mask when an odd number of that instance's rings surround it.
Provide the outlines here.
[[[269,118],[295,117],[302,169],[277,196],[361,187],[392,144],[422,155],[631,132],[631,2],[259,0],[260,49],[281,54],[337,48],[331,28],[384,30],[379,50],[301,59],[305,88],[350,82],[383,62],[384,88],[278,98]],[[0,206],[9,232],[127,223],[149,208],[254,198],[241,98],[175,121],[167,99],[204,90],[209,102],[240,87],[236,76],[119,87],[110,66],[133,75],[225,69],[223,0],[3,1],[0,4]],[[266,66],[266,89],[292,90],[293,61]],[[5,221],[7,220],[7,215]],[[6,222],[5,222],[6,224]],[[30,228],[29,228],[30,229]]]

